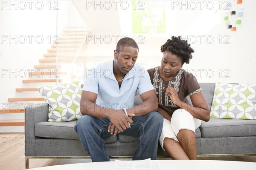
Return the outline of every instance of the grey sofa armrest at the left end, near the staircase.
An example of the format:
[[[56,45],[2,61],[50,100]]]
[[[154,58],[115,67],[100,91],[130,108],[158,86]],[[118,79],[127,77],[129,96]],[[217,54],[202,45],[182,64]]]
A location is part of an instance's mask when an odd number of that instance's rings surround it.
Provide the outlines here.
[[[35,124],[48,121],[49,104],[37,104],[25,109],[25,156],[35,156]]]

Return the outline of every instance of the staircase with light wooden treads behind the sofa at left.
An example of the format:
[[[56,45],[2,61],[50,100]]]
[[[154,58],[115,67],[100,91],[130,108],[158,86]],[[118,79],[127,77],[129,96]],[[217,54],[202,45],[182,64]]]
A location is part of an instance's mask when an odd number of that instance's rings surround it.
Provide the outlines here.
[[[27,88],[17,88],[16,93],[23,95],[22,98],[8,98],[9,107],[8,109],[0,109],[1,127],[8,126],[24,126],[24,112],[25,107],[29,106],[27,103],[40,104],[44,103],[44,99],[41,97],[36,86],[38,85],[55,85],[57,82],[61,82],[63,76],[67,75],[67,72],[61,72],[62,63],[72,63],[76,55],[81,50],[81,47],[86,40],[88,33],[87,28],[74,28],[67,27],[64,29],[57,44],[52,44],[50,49],[47,49],[47,53],[43,54],[43,58],[39,59],[39,64],[34,66],[35,72],[29,72],[29,79],[23,80],[23,84]],[[57,49],[58,48],[58,49]],[[56,64],[56,55],[58,55],[58,66]],[[58,69],[58,70],[57,70]],[[56,75],[60,78],[56,79]],[[56,82],[57,81],[57,82]],[[35,95],[35,97],[27,98],[27,95]],[[20,104],[23,102],[22,104]],[[23,106],[23,107],[20,107]],[[15,108],[13,107],[15,106]],[[8,114],[8,115],[7,115]],[[23,119],[12,120],[12,115],[22,114]],[[5,115],[5,116],[3,116]],[[3,118],[7,117],[9,119]],[[18,116],[21,117],[21,116]]]

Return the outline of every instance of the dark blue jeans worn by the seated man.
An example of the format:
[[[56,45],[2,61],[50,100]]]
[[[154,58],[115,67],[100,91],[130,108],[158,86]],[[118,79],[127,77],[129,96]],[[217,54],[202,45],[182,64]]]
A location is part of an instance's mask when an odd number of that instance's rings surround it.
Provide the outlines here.
[[[118,135],[138,137],[137,149],[133,160],[157,158],[158,139],[162,132],[163,116],[158,112],[150,112],[143,116],[133,117],[131,129],[128,128]],[[105,139],[111,137],[108,132],[109,118],[95,118],[84,115],[78,119],[74,129],[79,135],[92,161],[110,161],[106,152]]]

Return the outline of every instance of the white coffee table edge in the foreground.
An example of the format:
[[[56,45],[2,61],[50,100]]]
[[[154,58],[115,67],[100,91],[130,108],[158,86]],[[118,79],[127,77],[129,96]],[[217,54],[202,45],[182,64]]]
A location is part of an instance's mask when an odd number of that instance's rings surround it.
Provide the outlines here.
[[[152,160],[161,170],[256,170],[255,162],[213,160]],[[114,161],[63,164],[29,170],[112,170]]]

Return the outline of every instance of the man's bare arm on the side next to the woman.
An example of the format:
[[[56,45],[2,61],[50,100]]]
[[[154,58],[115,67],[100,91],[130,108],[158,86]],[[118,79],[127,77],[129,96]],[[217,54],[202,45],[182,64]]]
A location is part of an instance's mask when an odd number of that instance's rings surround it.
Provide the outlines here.
[[[154,89],[142,93],[140,97],[143,100],[143,103],[141,103],[139,106],[128,109],[128,113],[134,113],[135,116],[142,116],[148,114],[149,112],[157,111],[158,101]]]

